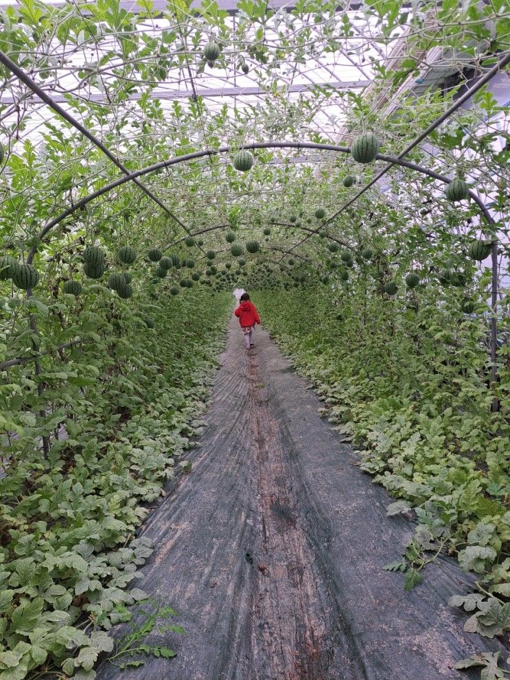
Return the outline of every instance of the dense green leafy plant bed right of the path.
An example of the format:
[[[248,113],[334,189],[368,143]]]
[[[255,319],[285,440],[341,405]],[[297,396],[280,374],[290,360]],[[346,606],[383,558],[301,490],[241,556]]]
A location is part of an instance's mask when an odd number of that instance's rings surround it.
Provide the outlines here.
[[[438,554],[456,557],[477,579],[476,593],[450,600],[470,613],[465,630],[507,639],[510,426],[505,410],[490,412],[481,325],[457,322],[457,342],[442,343],[453,303],[437,307],[432,296],[418,313],[369,299],[360,310],[340,291],[261,292],[256,302],[272,336],[321,395],[325,417],[360,447],[360,467],[399,499],[388,514],[417,520],[402,559],[384,568],[403,572],[410,589]],[[479,665],[490,664],[492,657]]]

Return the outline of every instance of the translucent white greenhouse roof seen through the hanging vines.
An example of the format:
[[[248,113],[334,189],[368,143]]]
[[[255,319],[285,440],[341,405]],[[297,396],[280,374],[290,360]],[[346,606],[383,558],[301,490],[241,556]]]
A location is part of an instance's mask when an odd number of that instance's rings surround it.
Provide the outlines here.
[[[433,5],[413,8],[408,21],[394,25],[381,22],[368,5],[349,5],[343,10],[334,3],[279,0],[269,5],[249,0],[237,5],[202,3],[200,9],[195,4],[187,8],[185,3],[161,1],[54,5],[25,0],[3,3],[0,10],[13,26],[21,17],[21,30],[27,43],[33,43],[30,54],[23,48],[19,55],[25,71],[79,124],[93,130],[129,169],[220,145],[235,150],[251,141],[308,140],[348,146],[365,128],[375,128],[397,154],[406,139],[413,139],[409,116],[426,121],[430,112],[441,113],[448,99],[444,104],[430,93],[449,75],[474,63],[458,47],[463,45],[463,36],[452,35],[446,24],[439,31],[435,28]],[[58,13],[53,15],[58,16],[54,24],[65,25],[68,33],[62,38],[62,32],[55,30],[43,39],[37,26],[54,12]],[[73,32],[75,20],[78,28]],[[218,40],[221,54],[208,65],[203,51],[211,39]],[[445,40],[448,49],[443,46]],[[480,49],[484,45],[480,42]],[[11,47],[16,55],[16,43]],[[411,55],[417,69],[406,63]],[[448,86],[443,90],[448,95]],[[417,97],[423,99],[421,109],[411,113]],[[395,115],[402,108],[404,115]],[[474,119],[471,128],[465,129],[474,130],[476,125]],[[417,129],[423,127],[418,119]],[[30,140],[43,161],[51,158],[51,138],[56,135],[64,134],[74,145],[83,141],[14,76],[0,89],[0,133],[11,139],[12,150]],[[106,183],[119,176],[102,154],[91,155],[92,149],[86,142],[75,152],[81,159],[80,179],[73,189],[76,199],[97,189],[96,178]],[[338,187],[328,183],[332,172],[355,173],[356,185],[370,178],[346,154],[301,148],[259,152],[260,173],[241,179],[230,174],[231,155],[205,157],[174,166],[171,172],[165,169],[143,177],[172,214],[180,216],[177,225],[181,228],[169,227],[162,236],[163,245],[183,237],[184,226],[186,231],[207,230],[203,231],[207,243],[219,248],[222,229],[229,224],[235,222],[249,232],[253,224],[272,216],[279,228],[266,250],[280,248],[283,253],[313,259],[317,239],[303,234],[302,225],[301,231],[299,224],[292,227],[282,214],[295,209],[299,215],[303,201],[312,207],[314,202],[340,207],[344,189],[338,192]],[[434,150],[425,149],[424,164],[443,175],[451,173],[452,161],[454,154],[441,159]],[[66,164],[59,163],[56,172],[65,173]],[[390,185],[404,177],[410,188],[406,196]],[[427,198],[420,199],[420,192],[415,191],[421,182],[415,174],[394,169],[391,178],[368,191],[360,202],[369,210],[369,219],[378,222],[380,209],[373,199],[382,192],[387,209],[399,213],[405,222],[416,215],[416,202],[423,206]],[[318,193],[314,186],[320,186]],[[305,199],[309,188],[311,194]],[[432,196],[436,194],[433,189]],[[161,217],[161,211],[154,212],[156,205],[145,199],[140,203],[137,194],[130,200],[147,215],[152,211],[151,220]],[[95,206],[101,210],[100,202]],[[339,242],[347,243],[356,225],[347,213],[345,217],[330,227]],[[424,224],[424,229],[429,226]],[[378,232],[386,233],[380,220]],[[301,248],[302,244],[306,247]]]

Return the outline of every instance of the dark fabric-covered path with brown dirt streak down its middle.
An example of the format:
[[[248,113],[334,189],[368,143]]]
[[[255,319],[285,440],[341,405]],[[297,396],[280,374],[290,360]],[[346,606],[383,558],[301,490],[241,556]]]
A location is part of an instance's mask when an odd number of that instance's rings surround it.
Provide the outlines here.
[[[139,587],[179,612],[176,659],[98,677],[165,680],[450,680],[487,641],[447,605],[466,588],[441,561],[404,593],[382,566],[410,534],[391,499],[318,417],[268,334],[249,357],[235,320],[193,471],[143,527]]]

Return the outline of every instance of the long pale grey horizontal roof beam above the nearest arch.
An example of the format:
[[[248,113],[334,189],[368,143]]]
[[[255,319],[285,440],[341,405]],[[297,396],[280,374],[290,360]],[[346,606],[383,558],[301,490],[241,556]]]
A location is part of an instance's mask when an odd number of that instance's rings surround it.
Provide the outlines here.
[[[362,89],[370,84],[370,80],[335,80],[332,82],[318,82],[314,84],[303,84],[303,85],[289,85],[282,88],[284,92],[306,92],[314,87],[331,87],[336,90],[353,90]],[[143,96],[143,92],[133,92],[129,95],[130,101],[137,101]],[[267,91],[260,87],[217,87],[217,88],[198,88],[196,90],[198,97],[204,97],[205,99],[210,99],[212,97],[248,97],[248,96],[258,96],[266,95]],[[75,95],[71,95],[75,96]],[[162,88],[157,88],[150,93],[151,99],[187,99],[188,97],[193,97],[192,91],[187,90],[165,90]],[[25,98],[25,97],[24,97]],[[112,106],[111,99],[108,99],[106,93],[93,92],[86,97],[83,95],[77,96],[81,101],[86,100],[89,102],[95,102],[97,104],[107,104]],[[57,104],[67,104],[69,99],[64,95],[54,94],[51,95],[51,99]],[[18,99],[12,95],[2,95],[0,97],[0,104],[16,104]],[[119,104],[124,105],[126,102],[119,102]],[[115,105],[115,104],[113,104]]]

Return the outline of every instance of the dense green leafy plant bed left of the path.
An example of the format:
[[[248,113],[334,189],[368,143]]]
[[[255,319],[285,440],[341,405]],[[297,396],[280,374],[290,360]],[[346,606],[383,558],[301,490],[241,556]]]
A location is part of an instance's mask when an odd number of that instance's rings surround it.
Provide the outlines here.
[[[86,288],[72,329],[94,342],[42,360],[51,414],[36,415],[33,365],[12,368],[1,386],[10,461],[0,480],[1,680],[89,680],[113,650],[107,631],[146,598],[137,570],[152,547],[137,528],[174,470],[188,467],[224,342],[227,296],[160,292],[157,305],[141,296],[133,308],[97,288]],[[57,440],[62,426],[68,438]]]

